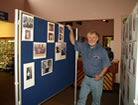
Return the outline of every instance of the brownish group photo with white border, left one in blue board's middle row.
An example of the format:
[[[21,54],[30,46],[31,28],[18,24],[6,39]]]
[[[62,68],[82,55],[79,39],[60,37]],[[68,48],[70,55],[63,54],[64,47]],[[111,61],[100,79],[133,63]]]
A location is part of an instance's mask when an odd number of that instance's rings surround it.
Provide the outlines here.
[[[46,43],[34,42],[33,58],[46,58]]]

